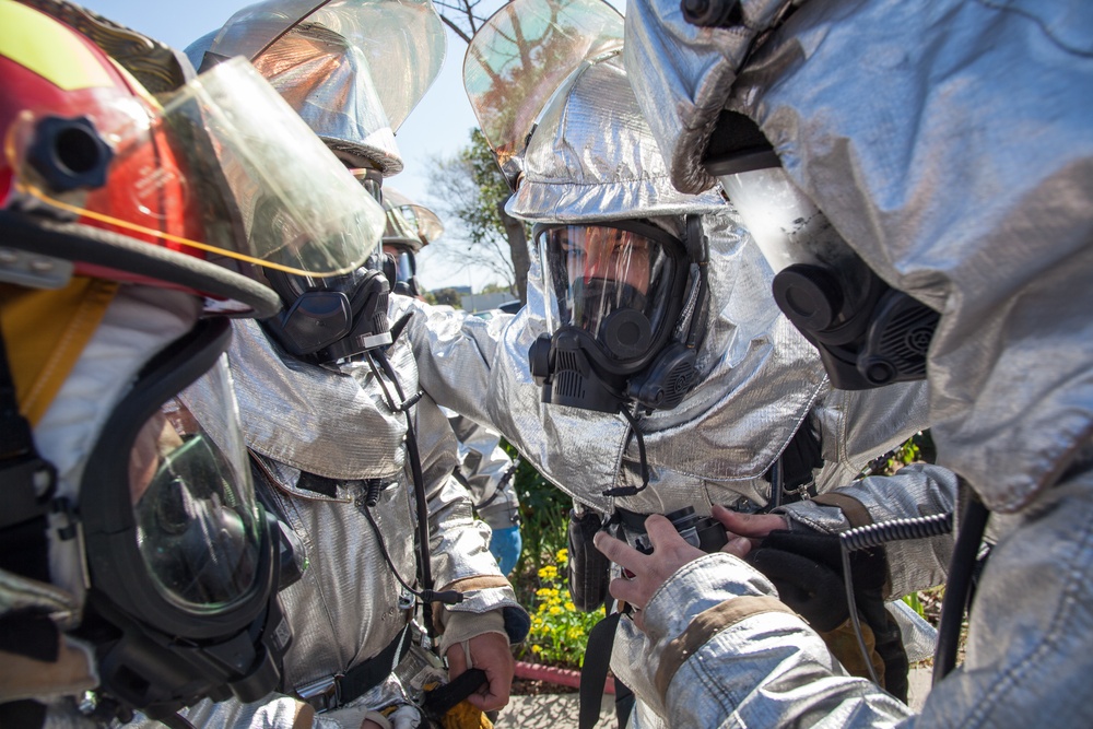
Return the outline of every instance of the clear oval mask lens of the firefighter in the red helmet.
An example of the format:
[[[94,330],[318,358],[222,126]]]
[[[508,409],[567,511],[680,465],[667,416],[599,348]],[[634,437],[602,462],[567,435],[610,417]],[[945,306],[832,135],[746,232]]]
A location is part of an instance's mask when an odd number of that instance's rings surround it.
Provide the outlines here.
[[[165,402],[129,457],[137,543],[156,590],[191,612],[255,585],[260,532],[226,363]]]

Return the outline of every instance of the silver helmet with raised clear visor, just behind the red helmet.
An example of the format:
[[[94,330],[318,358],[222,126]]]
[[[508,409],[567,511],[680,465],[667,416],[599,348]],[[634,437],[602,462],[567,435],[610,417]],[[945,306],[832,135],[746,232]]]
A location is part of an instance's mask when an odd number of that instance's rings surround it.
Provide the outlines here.
[[[393,132],[439,73],[446,50],[430,0],[266,0],[187,48],[246,56],[334,150],[402,169]]]

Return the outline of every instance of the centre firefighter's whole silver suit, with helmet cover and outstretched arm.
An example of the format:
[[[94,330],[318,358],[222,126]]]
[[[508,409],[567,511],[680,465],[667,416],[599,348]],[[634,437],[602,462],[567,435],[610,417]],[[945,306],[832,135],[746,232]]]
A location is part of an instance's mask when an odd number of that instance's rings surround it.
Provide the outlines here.
[[[492,423],[550,481],[604,514],[616,507],[665,514],[683,506],[709,514],[712,504],[755,510],[769,497],[763,474],[806,420],[822,444],[816,485],[830,491],[926,424],[920,384],[895,386],[883,396],[830,389],[815,350],[774,304],[771,271],[734,211],[716,195],[681,195],[669,185],[647,128],[633,121],[639,117],[620,57],[588,66],[560,104],[564,114],[553,110],[540,119],[509,212],[566,223],[656,217],[677,228],[683,214],[702,214],[712,304],[700,381],[675,409],[639,421],[648,489],[604,496],[613,486],[640,484],[637,448],[626,443],[622,416],[540,402],[528,348],[544,331],[544,302],[539,257],[531,256],[528,304],[513,318],[482,321],[399,301],[415,313],[408,332],[422,387],[438,402]],[[609,111],[631,121],[610,124]],[[561,149],[580,154],[560,156]],[[902,482],[907,490],[901,516],[952,508],[955,479],[943,469],[915,467]],[[832,506],[804,514],[813,524],[841,518]],[[892,595],[942,581],[950,548],[945,538],[896,545],[890,552],[900,565]],[[612,668],[639,697],[656,701],[654,683],[638,666],[644,636],[630,620],[620,625]]]

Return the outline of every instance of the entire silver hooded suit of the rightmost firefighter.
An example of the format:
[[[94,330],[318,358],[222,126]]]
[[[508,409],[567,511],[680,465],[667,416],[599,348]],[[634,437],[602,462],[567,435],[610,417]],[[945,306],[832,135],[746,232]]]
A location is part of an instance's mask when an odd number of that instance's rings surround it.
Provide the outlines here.
[[[938,459],[991,509],[998,541],[964,662],[917,716],[843,675],[728,555],[655,593],[640,670],[674,727],[1091,726],[1093,101],[1076,90],[1093,87],[1093,9],[810,1],[740,70],[789,5],[745,1],[722,30],[631,2],[639,102],[691,191],[712,184],[718,113],[754,119],[870,268],[942,313],[927,369]]]

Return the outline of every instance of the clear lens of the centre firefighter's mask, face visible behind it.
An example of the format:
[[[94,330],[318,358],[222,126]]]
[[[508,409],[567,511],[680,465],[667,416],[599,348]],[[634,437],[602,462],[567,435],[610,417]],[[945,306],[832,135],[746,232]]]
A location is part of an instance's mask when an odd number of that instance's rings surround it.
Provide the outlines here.
[[[600,339],[606,322],[622,310],[644,315],[653,332],[670,324],[665,321],[667,299],[678,262],[666,250],[669,238],[651,226],[647,232],[608,225],[541,231],[548,306],[557,311],[557,328],[578,327]]]

